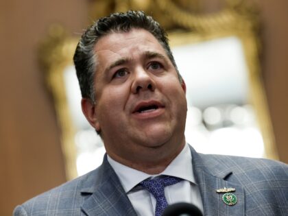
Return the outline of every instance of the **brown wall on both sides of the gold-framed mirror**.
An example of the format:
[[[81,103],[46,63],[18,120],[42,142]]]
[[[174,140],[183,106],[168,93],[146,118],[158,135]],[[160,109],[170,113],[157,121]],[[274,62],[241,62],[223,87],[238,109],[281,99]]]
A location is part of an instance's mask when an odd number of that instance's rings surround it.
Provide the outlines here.
[[[280,160],[288,163],[288,1],[253,0],[264,44],[263,79]],[[25,3],[24,3],[25,2]],[[77,0],[0,2],[0,215],[65,182],[60,130],[37,64],[38,43],[51,23],[78,33],[89,21]]]

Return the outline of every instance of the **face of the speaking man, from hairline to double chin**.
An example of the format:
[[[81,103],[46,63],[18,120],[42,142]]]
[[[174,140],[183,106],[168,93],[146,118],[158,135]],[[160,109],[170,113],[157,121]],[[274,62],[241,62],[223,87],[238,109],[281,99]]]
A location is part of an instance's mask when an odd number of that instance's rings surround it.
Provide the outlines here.
[[[101,130],[107,153],[133,161],[158,149],[160,158],[179,152],[185,85],[158,40],[144,29],[111,33],[99,39],[95,53],[96,104],[90,123]]]

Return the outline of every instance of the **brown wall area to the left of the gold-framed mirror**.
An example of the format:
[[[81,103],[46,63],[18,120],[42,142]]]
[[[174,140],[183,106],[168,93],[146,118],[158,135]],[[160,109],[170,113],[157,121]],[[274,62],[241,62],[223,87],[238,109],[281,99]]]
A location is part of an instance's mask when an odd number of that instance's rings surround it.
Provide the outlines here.
[[[82,32],[87,20],[85,1],[0,3],[0,215],[66,181],[60,130],[36,50],[51,23]]]

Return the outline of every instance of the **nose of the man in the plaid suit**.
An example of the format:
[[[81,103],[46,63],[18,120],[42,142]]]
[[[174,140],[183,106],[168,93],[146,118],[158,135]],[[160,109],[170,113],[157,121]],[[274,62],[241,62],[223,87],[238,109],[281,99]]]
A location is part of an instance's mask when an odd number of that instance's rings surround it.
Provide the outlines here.
[[[151,75],[143,68],[134,71],[134,80],[132,83],[132,93],[137,94],[140,91],[154,91],[156,84]]]

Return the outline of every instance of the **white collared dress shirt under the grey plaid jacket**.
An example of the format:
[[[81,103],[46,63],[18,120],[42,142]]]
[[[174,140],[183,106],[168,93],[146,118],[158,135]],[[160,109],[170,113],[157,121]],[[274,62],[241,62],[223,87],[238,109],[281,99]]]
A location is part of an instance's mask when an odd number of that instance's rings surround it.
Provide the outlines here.
[[[168,204],[176,202],[188,202],[194,204],[203,214],[203,204],[199,187],[195,183],[192,167],[192,156],[188,144],[184,146],[180,154],[168,165],[168,167],[158,175],[149,175],[143,171],[132,169],[118,163],[108,156],[108,162],[117,173],[119,180],[127,193],[132,206],[137,215],[149,216],[155,214],[156,199],[154,196],[146,191],[135,190],[134,187],[149,177],[156,177],[160,175],[175,176],[182,178],[183,181],[165,187],[165,197]]]

